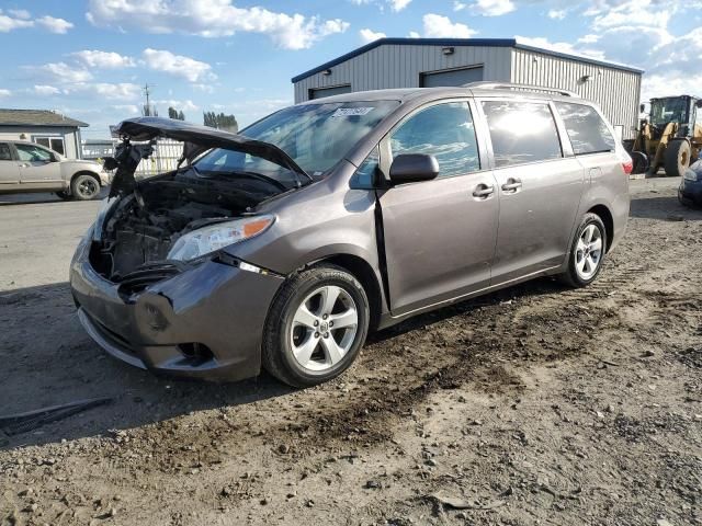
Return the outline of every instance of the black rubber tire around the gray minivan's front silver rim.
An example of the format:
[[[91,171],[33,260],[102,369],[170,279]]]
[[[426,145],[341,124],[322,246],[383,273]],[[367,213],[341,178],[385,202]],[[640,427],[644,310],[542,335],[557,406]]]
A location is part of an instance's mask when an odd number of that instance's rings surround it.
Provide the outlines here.
[[[355,336],[341,359],[336,365],[329,366],[327,370],[312,370],[303,367],[294,356],[293,338],[296,338],[294,331],[297,329],[294,329],[293,319],[305,299],[326,286],[341,288],[353,300],[358,324]],[[367,335],[369,321],[369,299],[363,286],[353,275],[339,266],[328,264],[299,272],[283,284],[269,311],[261,350],[263,367],[272,376],[293,387],[315,386],[336,378],[348,369],[358,356]],[[309,331],[304,327],[302,330]],[[339,334],[339,331],[344,329],[328,329],[328,331],[327,334],[330,334],[328,338],[333,339],[343,338],[346,334],[346,332]],[[336,336],[332,331],[336,331]],[[312,334],[307,333],[307,338],[312,338]],[[315,353],[324,352],[322,342],[318,341],[320,345],[316,347]]]

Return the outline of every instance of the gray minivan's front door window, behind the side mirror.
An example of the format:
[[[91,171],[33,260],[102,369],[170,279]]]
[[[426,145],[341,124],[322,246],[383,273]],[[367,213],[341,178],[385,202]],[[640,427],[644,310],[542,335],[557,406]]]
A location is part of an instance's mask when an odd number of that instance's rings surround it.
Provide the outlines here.
[[[403,123],[390,137],[393,157],[428,153],[439,161],[439,176],[465,175],[480,169],[471,108],[465,102],[428,107]]]

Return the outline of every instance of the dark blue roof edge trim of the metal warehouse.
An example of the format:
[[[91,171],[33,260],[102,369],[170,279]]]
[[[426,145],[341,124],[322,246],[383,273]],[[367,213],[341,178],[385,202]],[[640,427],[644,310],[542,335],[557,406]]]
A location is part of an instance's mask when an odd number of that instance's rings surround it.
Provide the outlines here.
[[[307,77],[312,77],[315,73],[324,71],[326,69],[330,69],[333,66],[337,66],[341,62],[346,62],[359,55],[363,55],[371,49],[374,49],[378,46],[383,45],[401,45],[401,46],[485,46],[485,47],[512,47],[516,49],[525,49],[529,52],[541,53],[544,55],[551,55],[559,58],[567,58],[570,60],[579,60],[586,64],[593,64],[596,66],[604,66],[608,68],[620,69],[622,71],[630,71],[634,73],[643,73],[643,69],[633,68],[631,66],[625,66],[618,62],[610,62],[607,60],[598,60],[590,57],[585,57],[581,55],[568,54],[555,52],[553,49],[544,49],[541,47],[529,46],[525,44],[519,43],[516,38],[395,38],[395,37],[386,37],[378,38],[377,41],[371,42],[365,46],[361,46],[356,49],[353,49],[346,55],[341,55],[328,62],[325,62],[316,68],[313,68],[304,73],[301,73],[296,77],[292,78],[292,82],[299,82]]]

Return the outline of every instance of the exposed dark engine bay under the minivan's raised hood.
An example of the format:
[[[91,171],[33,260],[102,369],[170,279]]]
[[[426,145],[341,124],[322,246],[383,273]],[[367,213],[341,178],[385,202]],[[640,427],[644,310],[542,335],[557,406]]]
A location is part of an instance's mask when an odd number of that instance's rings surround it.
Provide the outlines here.
[[[136,183],[106,218],[92,263],[121,282],[145,264],[163,262],[183,235],[249,214],[280,193],[256,180],[204,178],[192,168]]]

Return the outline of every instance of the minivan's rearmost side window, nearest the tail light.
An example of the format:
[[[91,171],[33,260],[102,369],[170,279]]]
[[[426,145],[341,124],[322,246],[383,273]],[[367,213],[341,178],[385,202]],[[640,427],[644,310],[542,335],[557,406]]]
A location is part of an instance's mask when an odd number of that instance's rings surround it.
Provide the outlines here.
[[[556,107],[576,156],[614,151],[614,138],[593,107],[569,102],[556,102]]]

